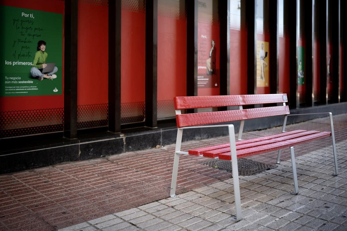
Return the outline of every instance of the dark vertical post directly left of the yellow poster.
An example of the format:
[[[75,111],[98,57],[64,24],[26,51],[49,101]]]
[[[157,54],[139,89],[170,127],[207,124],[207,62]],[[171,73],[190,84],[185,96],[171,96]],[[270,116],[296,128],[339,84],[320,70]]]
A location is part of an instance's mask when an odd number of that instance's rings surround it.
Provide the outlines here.
[[[257,94],[257,32],[256,32],[256,1],[243,0],[241,8],[246,8],[246,27],[247,27],[247,94]]]

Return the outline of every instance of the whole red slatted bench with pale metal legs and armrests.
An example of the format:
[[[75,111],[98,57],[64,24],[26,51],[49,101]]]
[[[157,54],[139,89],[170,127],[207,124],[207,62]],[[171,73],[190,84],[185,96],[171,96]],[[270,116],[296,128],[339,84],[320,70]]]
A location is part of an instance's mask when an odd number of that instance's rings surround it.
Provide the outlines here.
[[[335,136],[332,123],[332,114],[327,113],[330,116],[331,132],[319,132],[319,131],[305,131],[295,130],[286,132],[286,122],[289,115],[289,108],[286,106],[287,95],[286,94],[266,94],[266,95],[231,95],[231,96],[193,96],[193,97],[175,97],[174,104],[176,110],[176,122],[177,122],[177,140],[175,149],[174,167],[172,170],[171,180],[171,197],[177,197],[176,193],[176,181],[178,172],[179,156],[181,154],[189,154],[193,156],[204,156],[210,158],[218,158],[222,160],[231,160],[232,169],[238,169],[237,158],[247,157],[251,155],[261,154],[264,152],[279,150],[278,160],[280,163],[281,149],[290,148],[291,164],[293,168],[294,178],[294,192],[297,194],[298,181],[295,167],[294,145],[306,143],[309,141],[317,140],[323,137],[332,136],[333,153],[335,162],[335,173],[338,174],[337,169],[337,156]],[[282,104],[281,106],[268,106],[262,108],[243,109],[243,105],[255,105],[255,104]],[[204,112],[204,113],[191,113],[181,114],[181,110],[193,109],[193,108],[208,108],[208,107],[227,107],[238,106],[238,110],[227,110],[220,112]],[[312,113],[320,114],[320,113]],[[246,119],[278,116],[284,115],[282,133],[276,135],[270,135],[265,137],[259,137],[255,139],[242,140],[242,132],[244,127],[244,121]],[[295,114],[295,115],[308,115],[308,114]],[[238,141],[235,141],[234,126],[232,124],[220,124],[213,125],[215,123],[225,123],[231,121],[241,121],[239,128]],[[203,125],[203,126],[201,126]],[[189,150],[188,152],[181,151],[181,141],[184,129],[188,128],[201,128],[201,127],[221,127],[227,126],[229,130],[229,142],[225,144],[213,145],[209,147],[197,148]],[[234,196],[236,217],[235,221],[242,218],[241,214],[241,200],[240,200],[240,188],[239,188],[239,175],[238,171],[232,171],[232,178],[234,181]]]

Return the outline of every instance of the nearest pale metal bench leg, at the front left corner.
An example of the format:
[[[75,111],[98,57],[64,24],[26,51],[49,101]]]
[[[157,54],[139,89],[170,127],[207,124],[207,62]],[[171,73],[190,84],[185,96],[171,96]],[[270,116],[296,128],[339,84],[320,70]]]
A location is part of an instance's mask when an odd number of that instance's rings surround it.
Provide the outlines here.
[[[236,156],[236,143],[235,143],[235,131],[234,126],[229,126],[229,140],[230,140],[230,152],[231,152],[231,166],[232,166],[232,180],[234,182],[234,196],[235,196],[235,208],[236,217],[233,218],[234,221],[239,221],[242,219],[241,210],[241,196],[240,196],[240,183],[237,167],[237,156]]]

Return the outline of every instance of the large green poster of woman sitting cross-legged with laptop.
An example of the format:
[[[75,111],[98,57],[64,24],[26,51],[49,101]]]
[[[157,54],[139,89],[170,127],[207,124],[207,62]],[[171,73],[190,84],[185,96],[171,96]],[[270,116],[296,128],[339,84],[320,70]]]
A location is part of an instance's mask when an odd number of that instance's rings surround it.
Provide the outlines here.
[[[0,12],[0,97],[61,95],[62,14],[8,6],[0,6]],[[32,70],[41,40],[46,43],[45,51],[39,51],[36,57],[41,56],[38,61],[45,59],[49,67],[43,71],[44,78],[37,76],[42,76],[40,62]]]

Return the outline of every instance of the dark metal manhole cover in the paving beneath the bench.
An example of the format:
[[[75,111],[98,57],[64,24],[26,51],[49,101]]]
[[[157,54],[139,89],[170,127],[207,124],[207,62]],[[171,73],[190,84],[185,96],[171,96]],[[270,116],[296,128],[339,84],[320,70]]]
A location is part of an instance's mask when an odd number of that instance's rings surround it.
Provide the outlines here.
[[[220,170],[232,172],[231,161],[228,160],[210,160],[200,162],[203,165],[208,165],[212,168],[218,168]],[[265,170],[276,168],[276,165],[267,165],[253,160],[237,159],[237,166],[240,176],[250,176]]]

